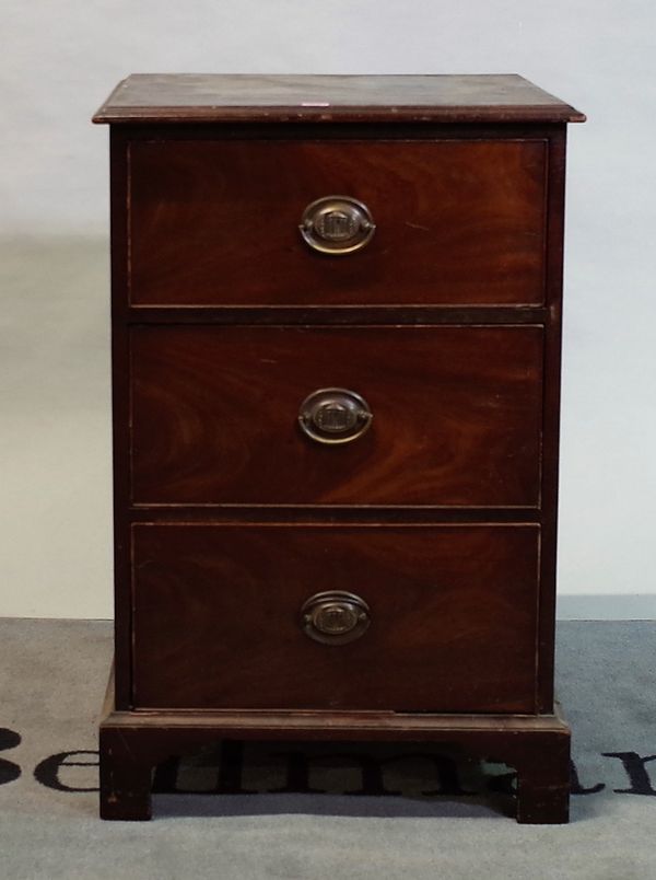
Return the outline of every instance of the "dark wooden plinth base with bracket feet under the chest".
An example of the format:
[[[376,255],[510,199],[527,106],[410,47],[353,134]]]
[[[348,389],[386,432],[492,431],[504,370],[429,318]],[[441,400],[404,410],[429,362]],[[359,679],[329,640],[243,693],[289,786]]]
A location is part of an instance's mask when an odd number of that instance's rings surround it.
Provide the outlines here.
[[[113,682],[110,682],[113,691]],[[379,711],[117,711],[99,730],[101,817],[151,819],[154,767],[223,739],[442,742],[517,772],[517,821],[563,823],[570,807],[570,728],[554,715]]]

